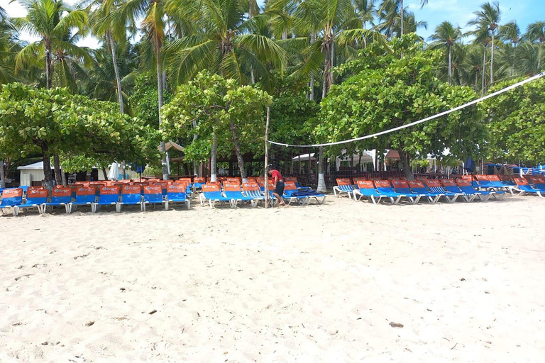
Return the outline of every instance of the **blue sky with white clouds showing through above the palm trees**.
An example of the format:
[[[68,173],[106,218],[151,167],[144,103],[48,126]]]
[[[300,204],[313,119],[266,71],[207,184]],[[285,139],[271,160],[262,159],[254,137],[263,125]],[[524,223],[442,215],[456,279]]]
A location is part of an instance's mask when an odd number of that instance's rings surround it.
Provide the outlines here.
[[[25,16],[23,7],[17,2],[10,4],[10,0],[0,0],[0,6],[6,9],[10,16]],[[65,0],[69,4],[75,4],[77,0]],[[327,0],[324,0],[327,1]],[[377,1],[380,3],[380,0]],[[263,5],[263,0],[258,0]],[[419,0],[405,0],[406,6],[414,12],[418,21],[428,22],[428,28],[419,30],[419,35],[428,38],[434,33],[436,26],[443,21],[450,21],[454,25],[459,25],[464,31],[469,30],[466,27],[468,21],[474,18],[473,12],[479,9],[480,4],[485,1],[479,0],[429,0],[424,9],[420,9]],[[502,22],[508,23],[516,20],[524,33],[529,23],[534,21],[545,21],[545,0],[502,0],[500,1],[502,11]],[[28,35],[22,34],[23,40],[32,40]],[[82,40],[79,45],[86,45],[91,48],[97,47],[97,40],[88,38]]]

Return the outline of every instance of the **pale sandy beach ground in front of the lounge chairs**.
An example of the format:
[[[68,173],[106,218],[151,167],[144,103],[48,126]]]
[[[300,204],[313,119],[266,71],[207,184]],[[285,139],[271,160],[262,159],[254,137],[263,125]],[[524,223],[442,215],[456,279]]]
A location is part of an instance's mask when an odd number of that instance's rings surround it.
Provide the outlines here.
[[[3,216],[0,362],[542,362],[544,199],[328,198]]]

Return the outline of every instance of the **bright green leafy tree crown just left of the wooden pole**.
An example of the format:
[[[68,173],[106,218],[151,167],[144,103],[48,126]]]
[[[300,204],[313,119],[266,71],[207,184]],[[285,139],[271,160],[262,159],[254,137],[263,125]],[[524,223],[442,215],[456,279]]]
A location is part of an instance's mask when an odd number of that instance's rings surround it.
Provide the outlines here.
[[[260,89],[239,86],[233,79],[204,71],[180,86],[174,99],[163,107],[163,128],[171,140],[182,140],[188,161],[208,159],[214,132],[218,154],[231,155],[230,120],[238,130],[241,152],[263,152],[265,107],[271,101]],[[197,135],[196,140],[193,135]]]

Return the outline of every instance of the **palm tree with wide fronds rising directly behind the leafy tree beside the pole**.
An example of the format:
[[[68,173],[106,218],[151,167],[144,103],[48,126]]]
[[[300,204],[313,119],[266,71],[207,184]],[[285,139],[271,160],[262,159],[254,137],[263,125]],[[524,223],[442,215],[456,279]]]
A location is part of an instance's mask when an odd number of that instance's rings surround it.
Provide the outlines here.
[[[287,55],[275,41],[252,32],[258,16],[246,18],[248,0],[169,0],[166,8],[173,18],[192,19],[194,32],[167,46],[168,63],[175,84],[186,82],[202,69],[236,79],[239,84],[254,80],[270,89],[268,62],[278,69]],[[250,6],[250,9],[252,6]],[[250,76],[248,78],[248,75]],[[252,76],[254,79],[252,79]],[[249,81],[249,82],[248,82]],[[230,124],[241,176],[246,176],[238,137]],[[216,178],[216,133],[212,135],[211,179]]]

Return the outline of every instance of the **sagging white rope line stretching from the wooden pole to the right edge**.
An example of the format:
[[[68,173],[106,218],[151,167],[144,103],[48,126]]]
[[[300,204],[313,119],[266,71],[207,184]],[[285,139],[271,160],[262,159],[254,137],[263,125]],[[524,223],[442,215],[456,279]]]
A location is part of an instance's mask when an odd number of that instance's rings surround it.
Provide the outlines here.
[[[495,96],[497,96],[499,94],[503,94],[503,93],[505,93],[507,91],[511,91],[512,89],[515,89],[515,88],[517,88],[519,86],[522,86],[523,84],[527,84],[529,82],[535,81],[536,79],[539,79],[539,78],[544,77],[544,76],[545,76],[545,72],[542,72],[540,74],[536,74],[534,77],[524,79],[524,81],[518,82],[516,84],[512,84],[511,86],[507,86],[504,89],[500,89],[500,91],[495,91],[493,94],[488,94],[488,95],[486,95],[484,97],[481,97],[480,99],[475,99],[475,101],[470,101],[467,104],[463,104],[461,106],[452,108],[451,110],[444,111],[444,112],[441,112],[441,113],[437,113],[434,116],[429,116],[429,117],[426,117],[426,118],[422,118],[422,120],[414,121],[412,123],[407,123],[407,125],[402,125],[402,126],[399,126],[397,128],[390,128],[390,130],[380,131],[380,133],[373,133],[372,135],[361,136],[360,138],[355,138],[355,139],[351,139],[351,140],[336,141],[335,143],[325,143],[325,144],[316,144],[316,145],[290,145],[290,144],[276,143],[275,141],[270,141],[270,140],[269,140],[269,143],[275,144],[275,145],[280,145],[280,146],[286,146],[286,147],[287,146],[292,146],[292,147],[319,147],[319,146],[341,145],[341,144],[346,144],[346,143],[352,143],[353,141],[359,141],[359,140],[365,140],[365,139],[369,139],[369,138],[375,138],[376,136],[385,135],[387,133],[393,133],[395,131],[403,130],[404,128],[409,128],[411,126],[418,125],[419,123],[424,123],[426,121],[434,120],[434,118],[439,118],[441,116],[448,115],[448,113],[453,113],[453,112],[459,111],[462,108],[473,106],[474,104],[478,104],[481,101],[485,101],[486,99],[490,99],[490,98],[495,97]]]

